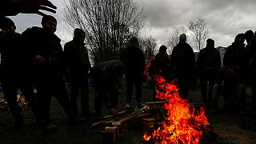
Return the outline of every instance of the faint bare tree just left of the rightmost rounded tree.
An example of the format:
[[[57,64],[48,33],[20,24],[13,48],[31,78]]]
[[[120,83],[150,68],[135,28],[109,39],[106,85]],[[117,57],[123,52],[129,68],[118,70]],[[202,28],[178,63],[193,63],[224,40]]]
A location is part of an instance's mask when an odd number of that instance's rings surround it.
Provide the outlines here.
[[[166,46],[169,47],[168,53],[171,54],[172,50],[174,49],[174,46],[176,46],[179,42],[179,35],[180,34],[186,34],[187,30],[185,26],[180,26],[177,29],[174,30],[173,34],[170,34],[170,37],[168,41],[166,42]]]

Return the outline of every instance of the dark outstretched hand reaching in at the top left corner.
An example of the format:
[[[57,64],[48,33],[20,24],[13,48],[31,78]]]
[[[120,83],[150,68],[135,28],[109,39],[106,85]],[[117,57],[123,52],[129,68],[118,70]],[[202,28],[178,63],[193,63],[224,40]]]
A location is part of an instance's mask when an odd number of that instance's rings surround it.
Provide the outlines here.
[[[18,13],[24,14],[39,14],[44,16],[46,14],[39,10],[56,13],[57,9],[57,7],[48,0],[13,0],[11,3],[18,8]]]

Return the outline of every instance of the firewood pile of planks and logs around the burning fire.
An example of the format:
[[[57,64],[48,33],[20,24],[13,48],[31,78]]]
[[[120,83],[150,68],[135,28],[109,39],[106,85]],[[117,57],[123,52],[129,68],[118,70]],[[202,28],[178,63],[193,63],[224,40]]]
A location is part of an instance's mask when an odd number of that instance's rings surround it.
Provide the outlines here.
[[[106,125],[102,130],[103,142],[114,143],[119,138],[119,133],[124,130],[129,130],[134,124],[140,122],[143,131],[152,132],[161,126],[163,121],[166,121],[166,111],[162,108],[164,102],[146,102],[140,110],[127,114],[126,117],[115,120],[113,116],[106,116],[101,122],[96,122],[92,126],[99,124]],[[121,111],[119,114],[125,114],[126,111]],[[202,138],[200,143],[220,143],[218,134],[214,132],[213,126],[202,126]],[[145,141],[143,138],[141,143],[161,143],[161,139],[152,138]],[[182,142],[181,142],[182,143]]]

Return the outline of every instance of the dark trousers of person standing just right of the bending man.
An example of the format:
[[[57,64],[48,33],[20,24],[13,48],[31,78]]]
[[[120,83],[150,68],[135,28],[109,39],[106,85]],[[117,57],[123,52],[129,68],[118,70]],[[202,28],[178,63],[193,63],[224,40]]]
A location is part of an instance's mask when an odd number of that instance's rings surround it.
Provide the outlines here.
[[[135,86],[136,100],[142,102],[142,75],[126,74],[126,102],[130,103]]]

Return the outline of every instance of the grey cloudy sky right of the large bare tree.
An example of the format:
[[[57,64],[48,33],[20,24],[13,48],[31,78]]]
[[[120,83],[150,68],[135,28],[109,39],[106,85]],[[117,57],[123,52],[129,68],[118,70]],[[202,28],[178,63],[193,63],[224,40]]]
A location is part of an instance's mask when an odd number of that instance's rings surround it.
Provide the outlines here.
[[[256,30],[255,0],[137,0],[137,2],[146,10],[147,26],[150,26],[154,32],[158,30],[162,33],[154,34],[156,36],[165,35],[164,30],[171,31],[175,26],[186,26],[188,21],[197,17],[206,19],[211,31],[210,37],[216,38],[216,44],[219,46],[230,45],[238,33],[249,29]]]

